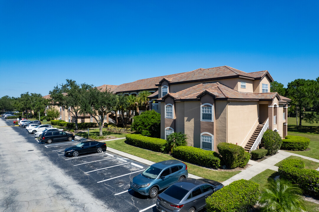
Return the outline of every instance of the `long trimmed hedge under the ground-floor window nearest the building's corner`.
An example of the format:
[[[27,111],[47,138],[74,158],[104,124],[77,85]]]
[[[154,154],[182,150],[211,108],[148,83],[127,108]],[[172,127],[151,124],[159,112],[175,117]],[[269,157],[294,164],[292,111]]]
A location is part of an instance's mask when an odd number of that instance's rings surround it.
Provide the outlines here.
[[[220,167],[220,159],[217,152],[203,150],[193,146],[176,146],[172,154],[176,158],[184,161],[195,163],[200,166],[208,166],[214,169]]]

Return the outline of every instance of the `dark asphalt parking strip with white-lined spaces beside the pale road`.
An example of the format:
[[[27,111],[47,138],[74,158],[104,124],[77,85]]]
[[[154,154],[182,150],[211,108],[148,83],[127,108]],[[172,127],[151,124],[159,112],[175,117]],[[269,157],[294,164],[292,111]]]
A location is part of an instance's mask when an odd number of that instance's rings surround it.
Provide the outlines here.
[[[7,126],[13,125],[13,120],[4,122]],[[150,199],[129,189],[133,177],[143,172],[148,165],[108,151],[65,157],[64,149],[78,144],[77,138],[71,142],[39,144],[25,128],[11,128],[19,136],[19,142],[31,143],[44,157],[58,166],[64,175],[70,176],[79,186],[85,187],[94,198],[104,202],[112,211],[156,211],[156,198]]]

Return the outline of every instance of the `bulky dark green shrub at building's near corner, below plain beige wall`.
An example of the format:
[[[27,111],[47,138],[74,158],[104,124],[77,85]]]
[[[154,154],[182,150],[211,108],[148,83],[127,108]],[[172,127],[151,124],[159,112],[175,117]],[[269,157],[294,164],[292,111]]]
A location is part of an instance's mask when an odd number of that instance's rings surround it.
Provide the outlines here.
[[[245,154],[244,148],[235,144],[223,142],[217,145],[217,149],[224,164],[231,169],[245,167],[250,159],[250,154]]]

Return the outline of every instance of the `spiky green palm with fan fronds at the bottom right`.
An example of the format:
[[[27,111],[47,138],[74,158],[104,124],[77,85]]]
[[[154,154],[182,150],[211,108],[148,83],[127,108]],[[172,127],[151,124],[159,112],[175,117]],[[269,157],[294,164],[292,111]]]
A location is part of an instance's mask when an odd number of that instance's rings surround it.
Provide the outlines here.
[[[306,211],[300,196],[302,190],[284,179],[270,179],[260,194],[258,203],[262,212],[301,212]]]

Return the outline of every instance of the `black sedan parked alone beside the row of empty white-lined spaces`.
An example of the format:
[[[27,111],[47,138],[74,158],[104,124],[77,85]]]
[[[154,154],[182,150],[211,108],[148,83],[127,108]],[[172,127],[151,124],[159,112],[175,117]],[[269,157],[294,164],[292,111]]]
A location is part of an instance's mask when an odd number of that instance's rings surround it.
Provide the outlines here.
[[[106,144],[97,141],[83,141],[75,146],[68,147],[64,150],[65,156],[77,157],[79,154],[92,152],[105,152]]]

